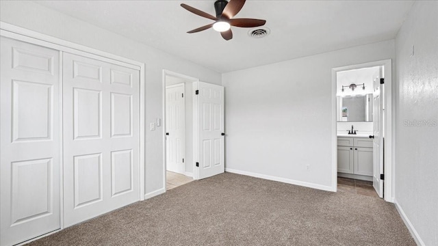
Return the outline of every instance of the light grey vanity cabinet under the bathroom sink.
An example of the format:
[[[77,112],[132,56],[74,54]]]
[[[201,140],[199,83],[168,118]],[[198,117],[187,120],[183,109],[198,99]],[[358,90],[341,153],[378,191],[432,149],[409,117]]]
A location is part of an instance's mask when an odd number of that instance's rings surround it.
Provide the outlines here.
[[[372,176],[372,139],[337,137],[337,172]]]

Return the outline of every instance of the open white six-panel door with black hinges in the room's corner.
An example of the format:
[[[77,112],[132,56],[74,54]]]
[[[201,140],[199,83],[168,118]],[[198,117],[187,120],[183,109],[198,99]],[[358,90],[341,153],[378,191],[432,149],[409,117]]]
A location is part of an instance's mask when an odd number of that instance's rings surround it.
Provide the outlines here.
[[[225,172],[224,87],[194,82],[194,177]]]

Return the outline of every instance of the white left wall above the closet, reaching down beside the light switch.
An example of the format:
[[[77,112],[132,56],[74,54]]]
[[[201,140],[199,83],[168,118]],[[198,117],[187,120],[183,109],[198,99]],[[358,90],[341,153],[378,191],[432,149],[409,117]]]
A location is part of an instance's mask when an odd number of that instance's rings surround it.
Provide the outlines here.
[[[0,20],[5,23],[146,64],[145,192],[151,193],[163,189],[164,128],[160,126],[156,131],[149,131],[147,127],[157,118],[163,118],[162,70],[172,70],[219,85],[221,83],[220,74],[31,1],[0,1],[0,7]]]

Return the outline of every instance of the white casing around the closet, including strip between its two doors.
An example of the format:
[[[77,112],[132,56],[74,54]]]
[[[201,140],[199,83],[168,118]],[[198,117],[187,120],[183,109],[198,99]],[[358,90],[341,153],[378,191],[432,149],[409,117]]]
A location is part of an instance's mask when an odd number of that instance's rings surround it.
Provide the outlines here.
[[[100,61],[106,61],[110,62],[112,64],[125,66],[127,68],[133,68],[140,72],[140,91],[138,92],[140,94],[140,109],[139,109],[139,197],[140,201],[144,200],[144,191],[145,191],[145,182],[144,182],[144,163],[145,163],[145,131],[144,131],[144,119],[145,119],[145,97],[146,97],[146,90],[145,90],[145,77],[144,77],[144,71],[145,71],[145,65],[144,63],[140,61],[135,61],[133,59],[128,59],[125,57],[120,57],[118,55],[114,55],[112,53],[107,53],[105,51],[99,51],[97,49],[90,48],[88,46],[84,46],[81,44],[75,44],[73,42],[68,42],[66,40],[62,40],[60,38],[55,38],[53,36],[48,36],[43,33],[39,33],[37,31],[32,31],[29,29],[25,29],[23,27],[17,27],[15,25],[4,23],[0,21],[0,36],[3,36],[5,38],[12,38],[14,40],[19,40],[22,42],[28,42],[30,44],[36,44],[39,46],[44,46],[49,49],[55,49],[57,51],[60,51],[60,66],[62,66],[62,55],[64,52],[72,53],[75,55],[81,55],[84,57],[89,57],[92,59],[98,59]],[[60,92],[62,92],[62,70],[60,71]],[[60,117],[62,117],[62,96],[60,96],[59,102],[60,105]],[[60,128],[62,129],[62,120],[60,120]],[[60,140],[62,141],[62,133],[60,133]],[[62,148],[60,150],[60,154],[62,155]],[[49,234],[52,234],[54,232],[60,231],[64,229],[64,192],[63,192],[63,183],[64,183],[64,168],[63,168],[64,162],[62,159],[60,160],[60,223],[61,228],[59,230],[55,230],[53,232],[50,232]],[[1,184],[0,184],[1,185]],[[29,243],[31,241],[34,241],[38,238],[42,238],[44,236],[47,236],[48,234],[44,234],[41,236],[38,236],[36,238],[32,238],[29,241],[25,241],[23,243]]]

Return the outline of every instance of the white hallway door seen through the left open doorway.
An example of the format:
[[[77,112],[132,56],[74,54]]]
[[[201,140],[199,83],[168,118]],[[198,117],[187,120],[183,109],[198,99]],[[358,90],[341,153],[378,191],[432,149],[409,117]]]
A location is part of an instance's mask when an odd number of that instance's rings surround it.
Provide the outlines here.
[[[185,174],[185,84],[166,86],[166,168]]]

